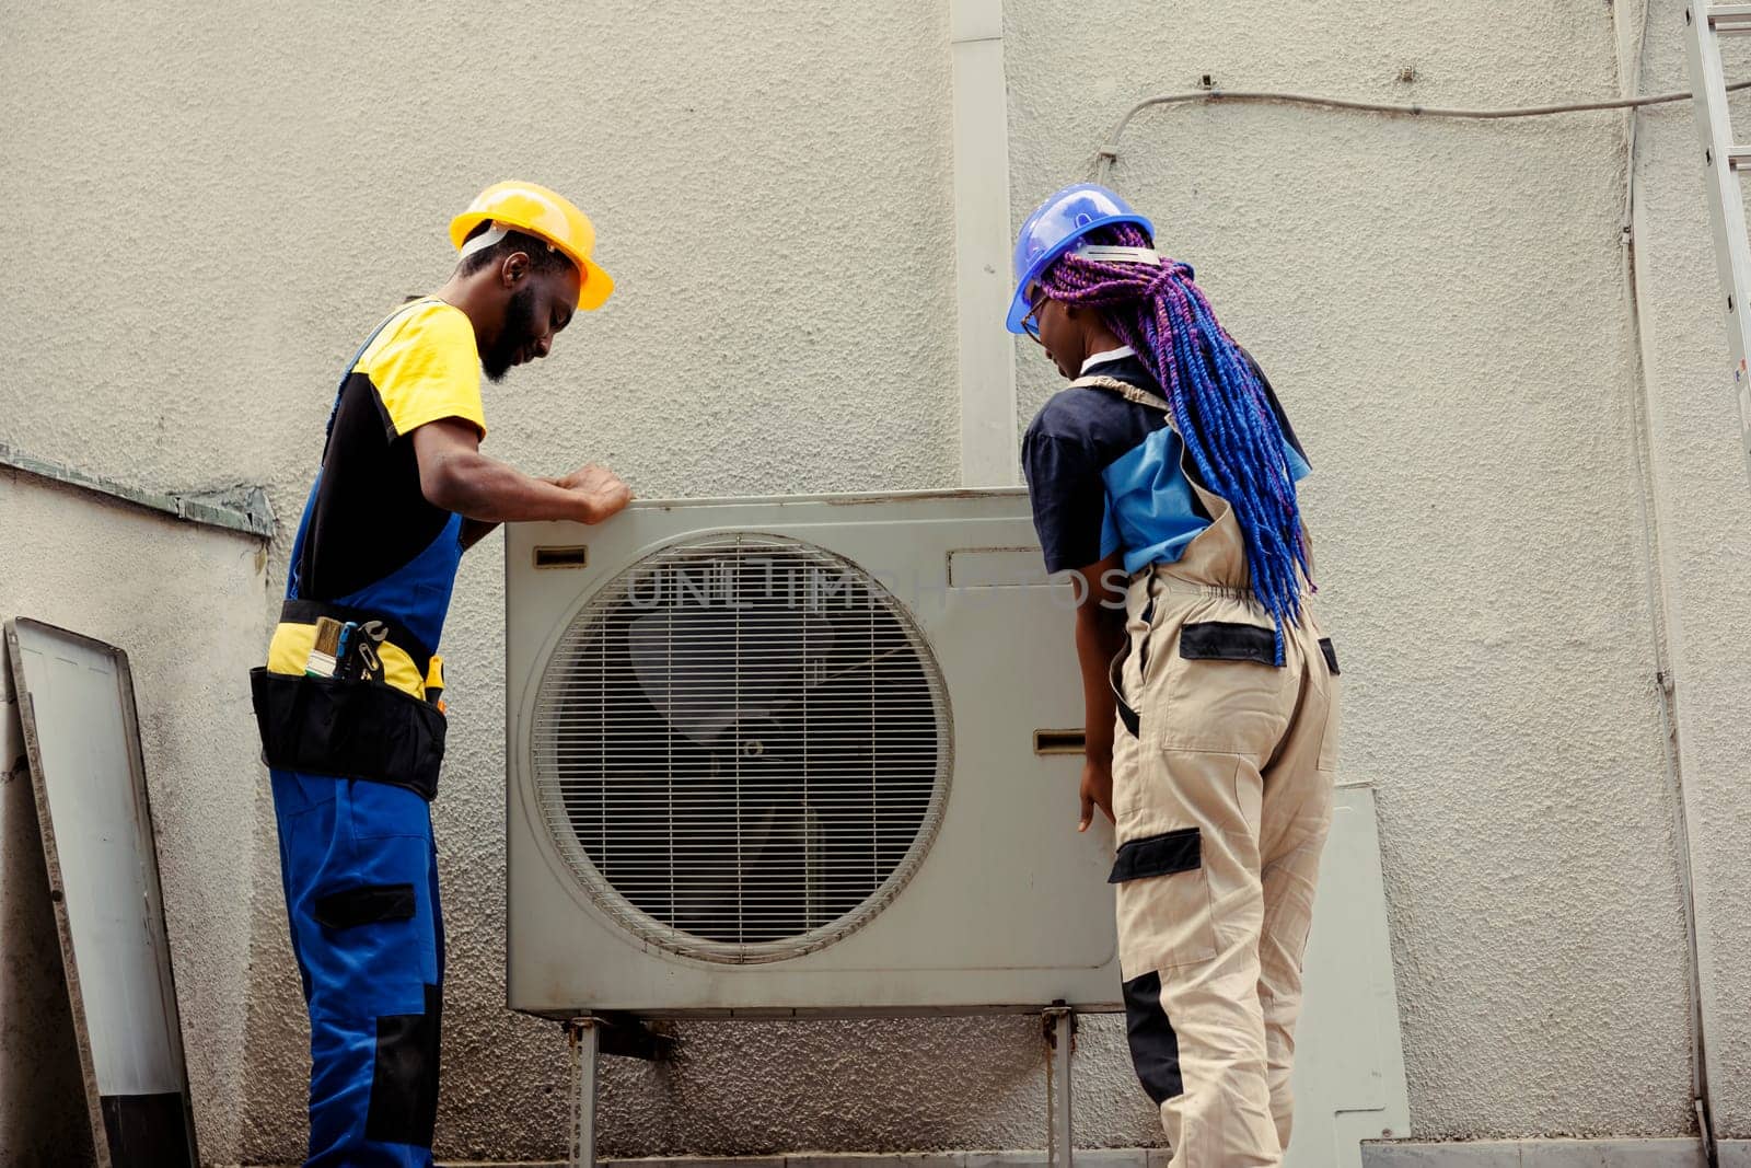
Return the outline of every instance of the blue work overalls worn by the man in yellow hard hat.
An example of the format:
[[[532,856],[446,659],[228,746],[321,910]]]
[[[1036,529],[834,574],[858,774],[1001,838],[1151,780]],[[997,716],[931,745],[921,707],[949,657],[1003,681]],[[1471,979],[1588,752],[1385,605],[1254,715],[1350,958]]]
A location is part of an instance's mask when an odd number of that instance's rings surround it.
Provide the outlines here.
[[[375,622],[376,648],[424,678],[462,557],[462,517],[392,574],[319,604],[299,595],[298,574],[319,489],[320,475],[292,548],[277,643],[308,634],[319,615]],[[310,1010],[306,1164],[429,1166],[443,1000],[429,799],[443,714],[424,686],[294,676],[273,662],[270,651],[252,686]]]

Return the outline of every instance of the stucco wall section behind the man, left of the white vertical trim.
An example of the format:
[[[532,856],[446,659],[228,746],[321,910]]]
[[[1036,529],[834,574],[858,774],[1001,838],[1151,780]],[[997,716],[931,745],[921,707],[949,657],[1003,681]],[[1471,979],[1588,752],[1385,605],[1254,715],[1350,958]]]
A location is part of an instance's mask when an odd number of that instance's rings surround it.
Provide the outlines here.
[[[954,483],[949,49],[935,5],[765,2],[711,21],[672,2],[473,19],[345,4],[0,12],[0,191],[39,224],[18,256],[37,275],[0,289],[21,341],[0,417],[32,454],[145,485],[264,482],[291,520],[347,354],[401,296],[443,280],[448,215],[487,182],[527,175],[595,215],[620,291],[553,361],[489,387],[489,452],[545,473],[601,459],[644,496]],[[471,557],[445,644],[441,1150],[552,1156],[559,1031],[503,1009],[496,555],[492,541]],[[210,1136],[210,1156],[284,1161],[303,1142],[306,1031],[256,783],[238,788],[257,795],[259,842],[249,1073],[240,1112],[201,1119],[228,1129],[242,1115],[242,1136]],[[236,893],[187,863],[187,879]],[[615,1065],[609,1150],[674,1147],[669,1133],[700,1152],[1038,1143],[1038,1108],[991,1107],[988,1091],[1009,1079],[1038,1093],[1044,1056],[1024,1024],[877,1026],[898,1035],[893,1066],[870,1059],[837,1080],[811,1051],[865,1038],[814,1030],[798,1045],[800,1030],[739,1028],[737,1045],[776,1058],[728,1075],[686,1070],[714,1058],[700,1042],[660,1091]],[[1147,1131],[1121,1070],[1110,1094]],[[776,1100],[797,1094],[830,1121],[791,1138],[798,1121]]]

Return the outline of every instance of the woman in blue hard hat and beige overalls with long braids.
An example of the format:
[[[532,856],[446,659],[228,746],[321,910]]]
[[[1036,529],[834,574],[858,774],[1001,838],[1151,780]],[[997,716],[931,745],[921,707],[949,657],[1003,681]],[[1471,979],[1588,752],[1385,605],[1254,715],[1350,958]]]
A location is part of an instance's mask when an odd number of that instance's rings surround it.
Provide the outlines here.
[[[1087,184],[1023,224],[1009,327],[1072,382],[1028,427],[1023,466],[1047,569],[1080,578],[1080,828],[1096,806],[1117,825],[1138,1079],[1173,1168],[1276,1164],[1338,660],[1308,606],[1306,457],[1152,235]]]

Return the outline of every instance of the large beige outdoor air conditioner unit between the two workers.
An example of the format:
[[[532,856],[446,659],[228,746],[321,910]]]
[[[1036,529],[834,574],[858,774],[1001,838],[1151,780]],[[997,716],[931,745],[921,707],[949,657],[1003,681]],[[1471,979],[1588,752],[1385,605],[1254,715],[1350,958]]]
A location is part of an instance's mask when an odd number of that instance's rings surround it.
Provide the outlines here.
[[[513,1009],[1115,1007],[1023,492],[636,503],[506,555]]]

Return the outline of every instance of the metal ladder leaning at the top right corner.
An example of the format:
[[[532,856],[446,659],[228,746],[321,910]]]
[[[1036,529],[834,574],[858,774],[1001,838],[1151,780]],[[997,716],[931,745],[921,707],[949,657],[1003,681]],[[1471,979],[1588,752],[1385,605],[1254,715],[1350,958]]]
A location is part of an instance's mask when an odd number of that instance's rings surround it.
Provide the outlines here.
[[[1714,259],[1726,294],[1726,343],[1733,359],[1733,396],[1739,401],[1739,448],[1751,475],[1751,238],[1746,236],[1740,168],[1751,168],[1751,145],[1733,144],[1726,110],[1726,74],[1721,68],[1721,37],[1751,35],[1751,4],[1707,4],[1691,0],[1684,11],[1690,42],[1690,86],[1695,95],[1697,130],[1707,166],[1709,212],[1714,222]]]

